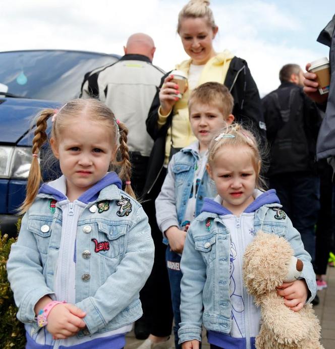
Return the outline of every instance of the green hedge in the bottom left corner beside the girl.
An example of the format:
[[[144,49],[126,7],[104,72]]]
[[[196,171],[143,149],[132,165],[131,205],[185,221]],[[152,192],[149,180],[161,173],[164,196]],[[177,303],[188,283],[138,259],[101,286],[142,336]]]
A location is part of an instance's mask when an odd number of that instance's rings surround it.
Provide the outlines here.
[[[2,349],[23,349],[26,343],[24,325],[16,318],[13,292],[7,279],[6,263],[16,239],[0,233],[0,343]]]

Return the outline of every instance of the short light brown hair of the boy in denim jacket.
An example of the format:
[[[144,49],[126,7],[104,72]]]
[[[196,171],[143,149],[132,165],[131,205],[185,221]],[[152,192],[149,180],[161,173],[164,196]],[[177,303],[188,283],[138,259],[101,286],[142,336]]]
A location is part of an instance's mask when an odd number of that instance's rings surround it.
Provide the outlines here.
[[[224,114],[225,119],[233,112],[234,98],[228,88],[218,82],[205,82],[192,90],[188,108],[191,113],[193,103],[216,105]]]

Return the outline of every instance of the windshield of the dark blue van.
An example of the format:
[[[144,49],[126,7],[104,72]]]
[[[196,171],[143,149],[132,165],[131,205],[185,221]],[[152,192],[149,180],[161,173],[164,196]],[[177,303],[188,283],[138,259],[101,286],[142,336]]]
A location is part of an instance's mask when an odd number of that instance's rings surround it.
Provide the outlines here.
[[[117,60],[81,51],[0,52],[0,83],[8,86],[9,95],[65,102],[79,97],[86,73]]]

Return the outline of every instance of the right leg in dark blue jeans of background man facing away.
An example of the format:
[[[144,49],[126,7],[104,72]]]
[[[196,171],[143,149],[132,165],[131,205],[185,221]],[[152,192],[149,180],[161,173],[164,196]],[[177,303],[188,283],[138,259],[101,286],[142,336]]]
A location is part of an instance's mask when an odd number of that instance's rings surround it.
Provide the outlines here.
[[[295,173],[291,176],[292,223],[300,232],[305,250],[315,259],[315,224],[320,209],[320,179],[313,174]]]

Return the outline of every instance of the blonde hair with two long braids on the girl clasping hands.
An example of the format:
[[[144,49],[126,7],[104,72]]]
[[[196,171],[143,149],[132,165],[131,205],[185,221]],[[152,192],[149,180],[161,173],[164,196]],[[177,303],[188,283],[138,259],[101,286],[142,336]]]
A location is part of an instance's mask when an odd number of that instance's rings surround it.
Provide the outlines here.
[[[33,158],[29,171],[28,183],[26,187],[26,198],[19,208],[19,213],[25,213],[32,205],[36,198],[39,186],[42,182],[41,169],[38,161],[38,156],[43,144],[48,140],[46,133],[47,121],[55,115],[55,110],[44,109],[37,115],[36,129],[34,131],[32,153]],[[110,167],[115,165],[119,168],[119,177],[122,181],[130,182],[131,163],[129,161],[129,151],[127,146],[128,129],[123,123],[117,124],[114,113],[102,102],[96,99],[74,99],[67,102],[59,111],[56,111],[57,117],[54,118],[51,128],[51,137],[56,141],[59,139],[62,129],[66,128],[73,118],[88,117],[94,122],[107,124],[110,128],[114,146],[117,148],[117,159],[110,164]],[[44,159],[43,159],[44,160]],[[126,184],[125,192],[135,197],[134,191],[130,184]]]

